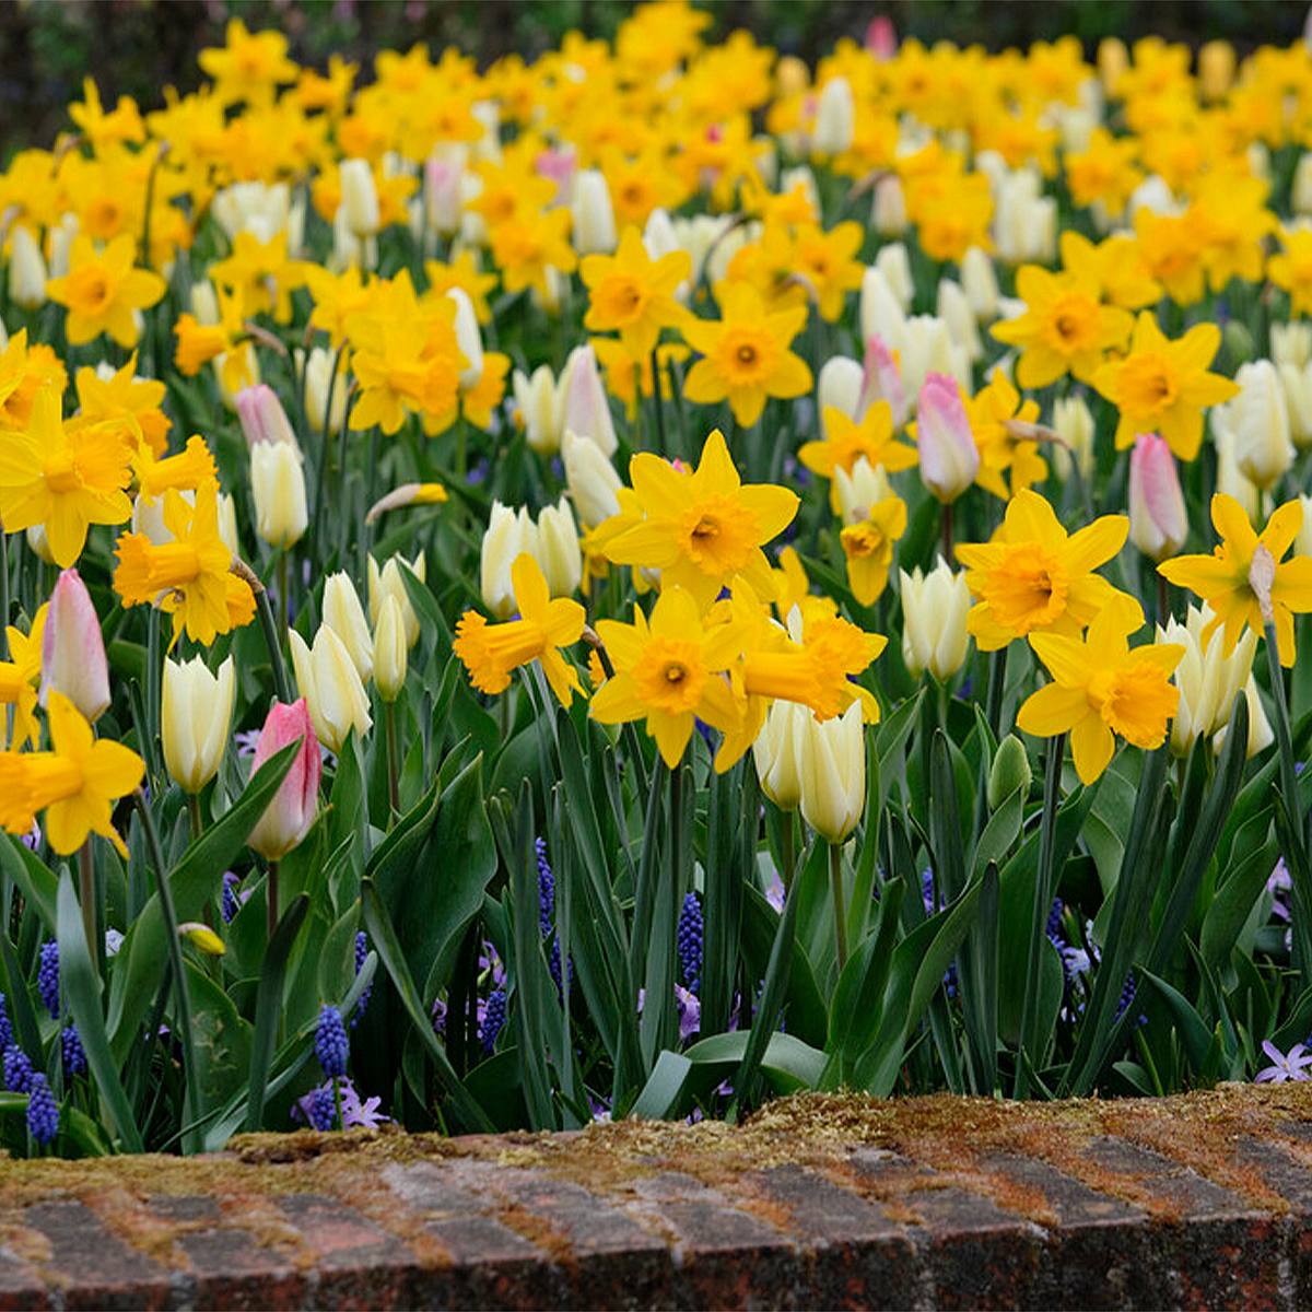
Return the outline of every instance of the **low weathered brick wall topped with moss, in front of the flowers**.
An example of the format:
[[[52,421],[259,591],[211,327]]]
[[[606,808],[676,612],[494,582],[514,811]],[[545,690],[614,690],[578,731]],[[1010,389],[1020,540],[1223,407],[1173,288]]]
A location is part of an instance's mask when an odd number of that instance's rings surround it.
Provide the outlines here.
[[[1312,1097],[0,1162],[0,1309],[1312,1305]]]

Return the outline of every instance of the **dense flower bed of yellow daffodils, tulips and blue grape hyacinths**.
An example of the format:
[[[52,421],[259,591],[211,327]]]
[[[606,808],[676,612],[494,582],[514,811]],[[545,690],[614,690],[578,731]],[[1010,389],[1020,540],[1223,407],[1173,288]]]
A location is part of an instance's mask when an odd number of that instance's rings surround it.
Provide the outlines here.
[[[1312,54],[706,25],[0,176],[10,1153],[1307,1078]]]

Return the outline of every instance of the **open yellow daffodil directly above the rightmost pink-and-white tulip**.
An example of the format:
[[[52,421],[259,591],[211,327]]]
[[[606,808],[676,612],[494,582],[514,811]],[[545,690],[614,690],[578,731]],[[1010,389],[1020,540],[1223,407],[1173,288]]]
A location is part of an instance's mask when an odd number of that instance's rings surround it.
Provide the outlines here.
[[[1093,378],[1120,411],[1117,450],[1134,446],[1140,433],[1160,433],[1179,459],[1198,455],[1203,411],[1239,391],[1231,379],[1207,371],[1220,344],[1216,324],[1195,324],[1172,341],[1148,311],[1139,315],[1128,354],[1107,361]]]

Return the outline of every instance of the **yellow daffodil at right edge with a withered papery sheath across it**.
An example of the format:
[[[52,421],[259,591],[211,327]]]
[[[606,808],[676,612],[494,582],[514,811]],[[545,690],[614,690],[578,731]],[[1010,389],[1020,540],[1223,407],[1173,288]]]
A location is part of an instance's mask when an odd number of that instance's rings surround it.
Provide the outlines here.
[[[1303,502],[1287,501],[1271,513],[1261,534],[1253,531],[1244,508],[1233,497],[1218,492],[1212,497],[1212,525],[1220,542],[1210,556],[1176,556],[1157,567],[1170,583],[1189,588],[1212,609],[1203,630],[1206,642],[1225,626],[1225,655],[1235,651],[1245,628],[1261,634],[1262,600],[1250,583],[1254,556],[1270,556],[1271,618],[1281,664],[1294,664],[1294,617],[1312,611],[1312,556],[1295,555],[1284,560],[1303,527]]]

